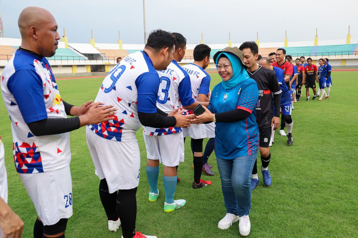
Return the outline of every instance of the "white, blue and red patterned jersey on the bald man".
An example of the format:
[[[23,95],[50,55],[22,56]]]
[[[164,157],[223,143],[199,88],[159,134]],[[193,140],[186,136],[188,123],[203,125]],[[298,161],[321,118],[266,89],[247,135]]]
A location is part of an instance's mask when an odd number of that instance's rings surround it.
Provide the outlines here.
[[[48,61],[34,52],[16,50],[1,78],[16,171],[41,173],[66,167],[71,161],[69,132],[34,136],[27,125],[47,118],[67,118]]]

